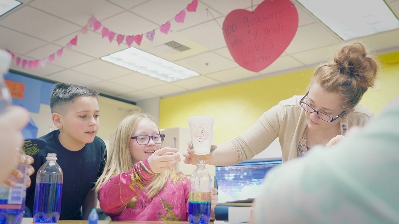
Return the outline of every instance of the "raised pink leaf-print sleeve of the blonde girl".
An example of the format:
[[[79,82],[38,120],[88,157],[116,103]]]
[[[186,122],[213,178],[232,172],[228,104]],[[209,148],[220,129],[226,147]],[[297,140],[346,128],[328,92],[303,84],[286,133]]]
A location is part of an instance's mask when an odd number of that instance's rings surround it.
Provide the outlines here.
[[[143,188],[154,178],[148,158],[134,164],[128,172],[122,172],[103,183],[98,190],[100,208],[106,214],[118,215],[127,203],[140,194]]]

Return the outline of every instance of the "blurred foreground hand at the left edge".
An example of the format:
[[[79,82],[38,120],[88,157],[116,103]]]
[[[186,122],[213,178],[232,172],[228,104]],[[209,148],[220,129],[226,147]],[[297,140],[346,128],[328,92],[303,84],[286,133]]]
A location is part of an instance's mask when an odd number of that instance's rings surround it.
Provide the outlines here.
[[[22,147],[22,130],[29,122],[29,112],[19,106],[8,107],[0,114],[0,183],[15,169],[18,163],[16,148]],[[18,174],[16,174],[18,175]],[[10,182],[13,185],[14,183]]]

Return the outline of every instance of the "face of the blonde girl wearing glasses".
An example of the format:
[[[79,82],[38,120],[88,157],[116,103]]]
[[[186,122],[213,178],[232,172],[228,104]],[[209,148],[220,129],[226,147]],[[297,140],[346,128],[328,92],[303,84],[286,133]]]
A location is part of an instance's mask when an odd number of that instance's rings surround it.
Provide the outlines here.
[[[157,124],[151,120],[142,119],[137,124],[136,129],[133,131],[132,137],[138,135],[153,136],[155,134],[159,134]],[[139,145],[136,139],[130,139],[129,141],[129,150],[134,163],[150,157],[156,150],[160,148],[161,144],[155,144],[151,138],[146,145]]]

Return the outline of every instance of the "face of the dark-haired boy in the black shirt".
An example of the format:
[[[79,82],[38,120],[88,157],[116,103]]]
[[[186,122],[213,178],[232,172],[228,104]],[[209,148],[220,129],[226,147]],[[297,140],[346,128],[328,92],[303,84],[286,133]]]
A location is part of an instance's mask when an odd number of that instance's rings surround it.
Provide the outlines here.
[[[86,143],[93,142],[100,127],[99,114],[95,97],[78,97],[68,105],[66,111],[60,115],[60,141],[63,146],[70,150],[76,147],[81,149]]]

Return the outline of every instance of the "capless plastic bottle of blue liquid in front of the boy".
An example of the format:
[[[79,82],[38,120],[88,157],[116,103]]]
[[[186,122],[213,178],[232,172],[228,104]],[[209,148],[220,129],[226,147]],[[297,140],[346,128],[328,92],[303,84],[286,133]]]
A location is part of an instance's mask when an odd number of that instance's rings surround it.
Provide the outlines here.
[[[33,205],[35,223],[56,223],[61,214],[64,174],[57,163],[57,154],[48,153],[46,159],[37,171]]]

